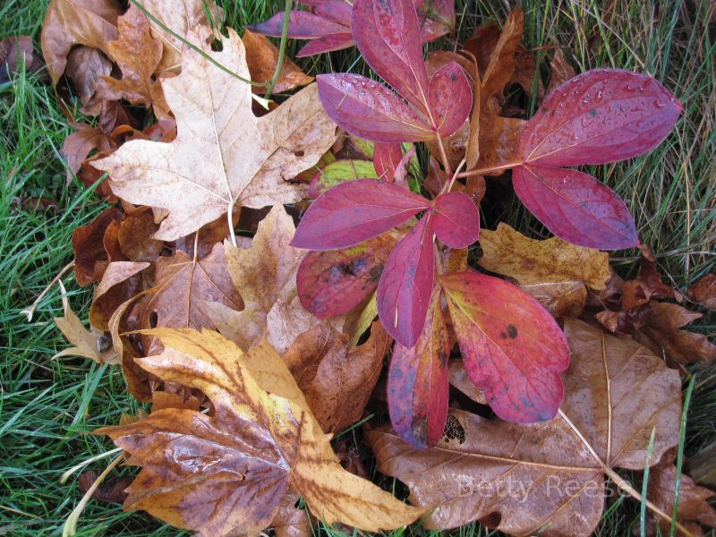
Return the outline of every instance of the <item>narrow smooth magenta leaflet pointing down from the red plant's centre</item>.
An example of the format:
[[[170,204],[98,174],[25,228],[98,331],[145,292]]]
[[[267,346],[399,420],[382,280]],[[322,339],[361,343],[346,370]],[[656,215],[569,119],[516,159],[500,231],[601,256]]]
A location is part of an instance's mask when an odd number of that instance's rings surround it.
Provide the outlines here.
[[[430,216],[396,244],[378,284],[378,315],[396,341],[412,347],[422,333],[435,280]]]

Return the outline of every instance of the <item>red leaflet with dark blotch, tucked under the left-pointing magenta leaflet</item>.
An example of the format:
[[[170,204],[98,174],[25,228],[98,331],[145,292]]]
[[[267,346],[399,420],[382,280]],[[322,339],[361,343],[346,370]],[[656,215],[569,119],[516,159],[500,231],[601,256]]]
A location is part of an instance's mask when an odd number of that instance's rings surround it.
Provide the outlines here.
[[[319,319],[353,310],[375,291],[395,243],[382,234],[345,250],[310,251],[296,274],[303,307]]]

